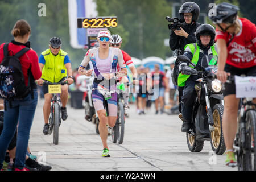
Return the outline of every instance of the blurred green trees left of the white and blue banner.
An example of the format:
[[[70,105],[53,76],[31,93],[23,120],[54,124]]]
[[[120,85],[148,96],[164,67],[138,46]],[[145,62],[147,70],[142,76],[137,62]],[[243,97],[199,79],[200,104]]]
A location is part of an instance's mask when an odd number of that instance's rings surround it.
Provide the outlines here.
[[[38,16],[38,4],[46,4],[46,17]],[[72,68],[76,68],[84,58],[85,51],[73,49],[69,44],[68,1],[63,0],[10,0],[0,1],[0,40],[10,42],[10,34],[17,20],[25,19],[31,26],[31,47],[38,53],[49,48],[49,39],[59,36],[63,40],[62,49],[68,52]]]

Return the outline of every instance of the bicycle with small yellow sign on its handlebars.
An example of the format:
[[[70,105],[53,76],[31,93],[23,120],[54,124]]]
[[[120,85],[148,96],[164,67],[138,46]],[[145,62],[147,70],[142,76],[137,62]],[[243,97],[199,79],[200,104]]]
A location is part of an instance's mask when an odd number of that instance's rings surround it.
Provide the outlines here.
[[[44,81],[43,85],[48,85],[48,91],[53,95],[51,99],[51,114],[49,117],[49,133],[53,133],[53,143],[59,144],[59,127],[61,125],[61,117],[60,117],[60,93],[61,86],[68,84],[67,81],[61,81],[59,83],[52,83],[49,81]]]

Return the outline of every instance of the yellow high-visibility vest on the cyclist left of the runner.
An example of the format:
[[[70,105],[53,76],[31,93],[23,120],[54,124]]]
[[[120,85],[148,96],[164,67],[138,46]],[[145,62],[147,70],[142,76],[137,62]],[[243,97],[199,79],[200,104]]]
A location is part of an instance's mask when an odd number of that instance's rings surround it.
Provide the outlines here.
[[[67,76],[67,69],[64,64],[67,52],[60,49],[59,53],[55,56],[51,53],[51,49],[47,49],[41,54],[44,56],[44,60],[46,60],[42,70],[42,79],[56,83]]]

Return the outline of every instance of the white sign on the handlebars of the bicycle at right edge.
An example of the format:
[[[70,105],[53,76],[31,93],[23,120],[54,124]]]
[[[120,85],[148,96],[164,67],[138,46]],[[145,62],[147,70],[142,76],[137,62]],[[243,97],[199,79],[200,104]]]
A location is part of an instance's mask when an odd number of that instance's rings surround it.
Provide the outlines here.
[[[256,98],[256,77],[235,76],[236,98]]]

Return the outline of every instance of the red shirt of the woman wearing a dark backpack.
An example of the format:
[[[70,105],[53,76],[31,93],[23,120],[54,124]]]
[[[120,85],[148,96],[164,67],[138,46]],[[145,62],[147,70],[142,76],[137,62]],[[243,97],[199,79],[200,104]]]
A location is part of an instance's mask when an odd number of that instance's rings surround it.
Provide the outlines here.
[[[0,63],[2,63],[3,60],[3,46],[5,43],[1,44],[0,46]],[[18,42],[11,42],[9,43],[8,50],[9,50],[9,55],[13,56],[16,53],[18,53],[21,49],[23,49],[24,44],[18,43]],[[24,75],[25,79],[25,84],[26,86],[28,85],[28,69],[31,68],[32,75],[34,77],[34,80],[38,80],[42,72],[40,71],[39,68],[39,63],[38,63],[38,55],[36,54],[35,51],[32,49],[24,53],[22,56],[19,57],[20,63],[22,65],[22,72]]]

